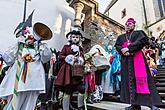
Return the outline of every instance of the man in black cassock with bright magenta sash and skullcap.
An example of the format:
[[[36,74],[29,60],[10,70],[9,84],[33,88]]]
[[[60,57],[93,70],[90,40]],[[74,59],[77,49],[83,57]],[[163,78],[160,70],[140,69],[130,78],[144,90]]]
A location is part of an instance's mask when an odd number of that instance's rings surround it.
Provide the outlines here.
[[[121,55],[121,101],[131,104],[125,110],[141,110],[141,105],[159,110],[155,105],[162,104],[161,98],[142,53],[148,37],[142,30],[134,30],[135,23],[133,18],[127,20],[126,33],[115,44]]]

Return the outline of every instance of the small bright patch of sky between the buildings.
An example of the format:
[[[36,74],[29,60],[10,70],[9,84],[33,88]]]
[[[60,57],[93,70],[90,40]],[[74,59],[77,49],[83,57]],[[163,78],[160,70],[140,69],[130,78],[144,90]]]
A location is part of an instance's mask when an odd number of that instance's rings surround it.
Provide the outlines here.
[[[105,9],[107,8],[107,6],[109,5],[111,0],[97,0],[97,2],[99,3],[99,11],[101,13],[104,13]]]

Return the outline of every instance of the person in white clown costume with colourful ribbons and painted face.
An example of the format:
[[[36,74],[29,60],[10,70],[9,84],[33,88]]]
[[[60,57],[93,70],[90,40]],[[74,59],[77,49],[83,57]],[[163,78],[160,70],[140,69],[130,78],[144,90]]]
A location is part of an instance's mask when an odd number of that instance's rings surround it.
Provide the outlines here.
[[[0,85],[0,98],[7,100],[4,110],[34,110],[39,94],[45,92],[42,63],[50,60],[51,52],[45,43],[36,41],[31,28],[18,34],[22,40],[2,55],[10,68]]]

